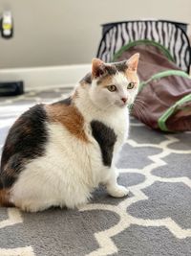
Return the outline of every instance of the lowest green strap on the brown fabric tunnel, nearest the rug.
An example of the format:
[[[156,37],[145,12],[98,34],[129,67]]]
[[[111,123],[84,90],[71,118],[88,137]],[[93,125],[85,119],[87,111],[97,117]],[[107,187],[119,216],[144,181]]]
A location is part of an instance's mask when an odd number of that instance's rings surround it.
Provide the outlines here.
[[[183,98],[180,99],[180,101],[178,101],[175,105],[172,105],[171,107],[169,107],[159,118],[158,120],[158,125],[159,125],[159,128],[161,130],[164,130],[164,131],[169,131],[168,128],[166,127],[166,121],[167,119],[175,112],[175,110],[177,109],[177,107],[179,105],[182,105],[184,103],[187,103],[187,102],[191,102],[191,93],[184,96]]]

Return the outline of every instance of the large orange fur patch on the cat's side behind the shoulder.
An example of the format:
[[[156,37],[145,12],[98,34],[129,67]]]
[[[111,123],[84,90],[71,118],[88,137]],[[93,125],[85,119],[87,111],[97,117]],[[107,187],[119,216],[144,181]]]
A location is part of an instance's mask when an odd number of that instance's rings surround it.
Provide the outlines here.
[[[77,108],[72,105],[46,105],[50,121],[60,123],[67,128],[77,139],[88,142],[84,131],[84,119]]]

